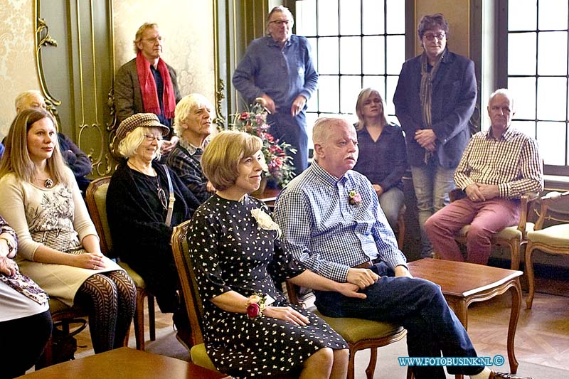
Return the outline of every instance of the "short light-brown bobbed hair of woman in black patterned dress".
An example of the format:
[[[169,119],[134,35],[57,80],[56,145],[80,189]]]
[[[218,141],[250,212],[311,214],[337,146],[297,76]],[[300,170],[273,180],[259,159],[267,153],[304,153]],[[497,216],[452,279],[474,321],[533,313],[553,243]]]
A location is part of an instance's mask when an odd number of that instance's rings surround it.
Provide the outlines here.
[[[201,156],[201,169],[216,189],[233,186],[239,176],[239,162],[262,148],[262,140],[245,132],[228,130],[213,137]]]

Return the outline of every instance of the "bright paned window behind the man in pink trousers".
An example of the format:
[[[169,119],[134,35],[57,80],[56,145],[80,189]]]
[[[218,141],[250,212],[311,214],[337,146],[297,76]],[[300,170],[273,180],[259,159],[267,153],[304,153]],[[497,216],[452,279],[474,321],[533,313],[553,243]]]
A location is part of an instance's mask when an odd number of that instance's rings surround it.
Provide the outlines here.
[[[567,0],[509,0],[508,87],[513,125],[535,137],[548,174],[569,174]]]

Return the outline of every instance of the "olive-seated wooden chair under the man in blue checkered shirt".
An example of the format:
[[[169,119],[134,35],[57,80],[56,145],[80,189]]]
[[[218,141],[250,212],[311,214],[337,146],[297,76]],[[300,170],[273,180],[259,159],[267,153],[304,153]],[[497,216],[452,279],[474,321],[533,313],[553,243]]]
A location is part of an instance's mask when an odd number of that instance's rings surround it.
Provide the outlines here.
[[[299,287],[296,284],[287,282],[287,292],[292,304],[300,304],[298,289]],[[321,314],[317,309],[314,310],[314,313],[321,319],[324,319],[348,343],[350,360],[347,379],[354,378],[354,363],[358,351],[366,348],[371,349],[366,375],[368,379],[372,379],[376,370],[378,348],[397,342],[407,335],[407,331],[402,326],[387,322],[352,319],[349,317],[328,317]],[[413,377],[410,370],[408,370],[407,377]]]

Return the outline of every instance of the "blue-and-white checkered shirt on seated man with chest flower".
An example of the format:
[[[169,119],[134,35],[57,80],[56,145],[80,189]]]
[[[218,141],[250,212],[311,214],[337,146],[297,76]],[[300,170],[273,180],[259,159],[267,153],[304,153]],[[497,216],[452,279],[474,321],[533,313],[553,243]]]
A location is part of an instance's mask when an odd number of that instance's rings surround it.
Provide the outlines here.
[[[349,192],[361,195],[351,205]],[[381,258],[389,267],[405,265],[368,179],[356,171],[332,176],[316,162],[280,194],[275,220],[289,252],[311,271],[346,282],[350,267]]]

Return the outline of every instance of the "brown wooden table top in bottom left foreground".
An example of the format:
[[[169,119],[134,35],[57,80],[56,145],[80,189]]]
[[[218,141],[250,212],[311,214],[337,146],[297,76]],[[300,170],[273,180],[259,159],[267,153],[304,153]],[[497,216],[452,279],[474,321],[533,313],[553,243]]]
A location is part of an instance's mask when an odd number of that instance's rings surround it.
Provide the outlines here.
[[[159,356],[133,348],[117,348],[105,353],[42,368],[20,378],[221,379],[230,378],[230,376],[176,358]]]

